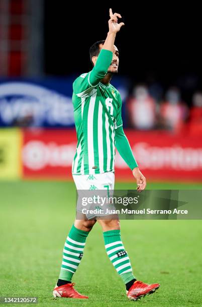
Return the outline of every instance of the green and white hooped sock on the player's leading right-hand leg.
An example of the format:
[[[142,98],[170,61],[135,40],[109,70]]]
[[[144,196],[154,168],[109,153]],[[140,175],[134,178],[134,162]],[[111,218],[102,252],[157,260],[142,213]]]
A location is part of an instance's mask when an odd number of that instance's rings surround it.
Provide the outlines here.
[[[123,281],[128,283],[134,279],[130,259],[124,249],[120,230],[110,230],[103,233],[107,254]]]

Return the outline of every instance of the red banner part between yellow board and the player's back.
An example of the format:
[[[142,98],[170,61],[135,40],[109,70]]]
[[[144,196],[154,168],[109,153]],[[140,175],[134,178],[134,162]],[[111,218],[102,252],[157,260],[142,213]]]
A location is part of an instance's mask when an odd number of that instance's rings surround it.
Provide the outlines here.
[[[24,178],[70,178],[76,149],[76,132],[60,129],[24,130]]]

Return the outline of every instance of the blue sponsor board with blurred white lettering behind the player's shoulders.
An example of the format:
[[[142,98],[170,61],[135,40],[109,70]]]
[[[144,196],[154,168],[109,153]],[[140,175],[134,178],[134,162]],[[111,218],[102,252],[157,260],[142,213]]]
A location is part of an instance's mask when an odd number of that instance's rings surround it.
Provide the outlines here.
[[[73,127],[69,78],[0,80],[0,126]],[[113,82],[125,100],[125,87]]]

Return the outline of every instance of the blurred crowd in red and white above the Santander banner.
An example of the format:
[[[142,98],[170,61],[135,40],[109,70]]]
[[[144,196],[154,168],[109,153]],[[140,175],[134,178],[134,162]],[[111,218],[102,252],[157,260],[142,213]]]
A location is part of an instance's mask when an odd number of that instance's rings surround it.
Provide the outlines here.
[[[202,92],[193,93],[191,106],[181,99],[177,87],[168,88],[161,96],[159,89],[144,84],[134,86],[126,100],[128,126],[138,130],[202,133]]]

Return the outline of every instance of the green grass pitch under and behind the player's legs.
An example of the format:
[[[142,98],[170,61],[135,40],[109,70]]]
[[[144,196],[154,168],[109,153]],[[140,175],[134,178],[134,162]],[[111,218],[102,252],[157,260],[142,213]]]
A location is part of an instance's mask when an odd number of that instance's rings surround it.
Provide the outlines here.
[[[116,188],[132,189],[133,183]],[[201,184],[149,184],[148,189],[201,189]],[[53,299],[64,241],[73,223],[72,182],[0,182],[0,296],[38,296],[39,306],[201,306],[202,223],[198,220],[121,221],[135,276],[159,282],[156,293],[129,301],[95,225],[73,277],[88,300]],[[13,304],[17,305],[17,304]],[[27,305],[27,304],[26,304]]]

